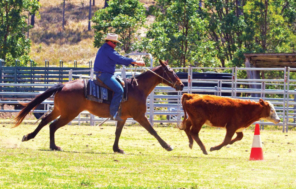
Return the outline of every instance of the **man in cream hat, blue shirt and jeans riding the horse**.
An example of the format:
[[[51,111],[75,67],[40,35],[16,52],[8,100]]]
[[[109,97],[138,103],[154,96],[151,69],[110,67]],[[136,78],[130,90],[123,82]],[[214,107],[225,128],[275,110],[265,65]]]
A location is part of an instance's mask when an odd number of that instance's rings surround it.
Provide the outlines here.
[[[118,52],[114,50],[117,43],[121,44],[121,42],[117,40],[117,37],[117,34],[108,33],[106,38],[102,38],[102,40],[105,40],[105,43],[97,52],[94,61],[94,73],[114,92],[109,110],[111,120],[123,121],[118,114],[118,108],[122,100],[123,88],[113,76],[115,72],[115,65],[120,64],[129,66],[136,64],[139,66],[145,66],[145,62],[137,61],[118,54]]]

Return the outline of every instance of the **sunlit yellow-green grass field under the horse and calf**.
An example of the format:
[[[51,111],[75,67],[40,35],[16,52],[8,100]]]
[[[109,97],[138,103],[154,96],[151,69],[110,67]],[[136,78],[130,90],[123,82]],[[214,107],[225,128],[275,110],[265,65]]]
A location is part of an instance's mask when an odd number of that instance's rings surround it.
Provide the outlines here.
[[[225,131],[202,128],[204,155],[196,143],[189,149],[174,126],[154,127],[174,146],[167,152],[143,127],[127,125],[119,140],[126,154],[115,154],[114,125],[62,127],[55,141],[64,151],[50,151],[47,126],[21,142],[37,127],[31,122],[12,129],[1,120],[0,188],[296,188],[296,131],[261,131],[265,160],[249,161],[253,127],[241,141],[213,152]]]

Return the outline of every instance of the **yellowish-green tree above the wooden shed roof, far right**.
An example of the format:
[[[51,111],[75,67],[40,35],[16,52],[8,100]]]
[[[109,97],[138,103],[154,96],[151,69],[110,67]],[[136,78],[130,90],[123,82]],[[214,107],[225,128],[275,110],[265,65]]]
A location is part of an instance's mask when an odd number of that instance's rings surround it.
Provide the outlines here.
[[[288,2],[281,0],[254,0],[246,3],[244,6],[244,17],[247,25],[245,33],[251,36],[246,41],[246,49],[248,51],[290,51],[286,44],[290,43],[289,36],[293,35],[291,24],[295,23],[295,20],[291,20],[291,14],[285,10],[293,8],[289,6]],[[295,19],[295,14],[292,18]]]

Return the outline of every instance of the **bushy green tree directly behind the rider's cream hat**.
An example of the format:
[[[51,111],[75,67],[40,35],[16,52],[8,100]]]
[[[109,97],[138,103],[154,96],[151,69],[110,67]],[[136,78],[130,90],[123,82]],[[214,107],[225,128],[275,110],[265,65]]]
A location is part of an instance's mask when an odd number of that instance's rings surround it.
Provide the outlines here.
[[[145,7],[138,0],[113,0],[109,6],[95,12],[94,22],[94,46],[100,47],[107,33],[116,33],[122,42],[125,53],[131,51],[134,34],[145,24]]]

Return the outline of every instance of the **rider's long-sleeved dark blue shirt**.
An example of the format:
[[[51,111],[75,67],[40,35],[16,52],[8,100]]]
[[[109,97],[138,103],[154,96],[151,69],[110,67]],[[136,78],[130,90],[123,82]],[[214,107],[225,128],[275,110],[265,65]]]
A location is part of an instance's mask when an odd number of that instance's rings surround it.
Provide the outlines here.
[[[98,50],[94,60],[94,71],[114,74],[116,64],[128,66],[131,62],[136,61],[132,58],[121,56],[111,46],[104,43]]]

